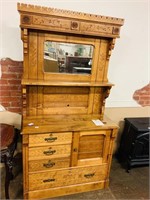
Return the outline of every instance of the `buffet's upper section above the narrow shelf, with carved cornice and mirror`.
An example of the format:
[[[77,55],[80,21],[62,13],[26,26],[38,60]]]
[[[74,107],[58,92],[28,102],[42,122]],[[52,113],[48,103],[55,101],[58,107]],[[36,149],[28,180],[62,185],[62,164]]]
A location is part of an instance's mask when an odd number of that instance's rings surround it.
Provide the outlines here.
[[[108,83],[109,58],[123,19],[19,3],[18,11],[24,84]]]

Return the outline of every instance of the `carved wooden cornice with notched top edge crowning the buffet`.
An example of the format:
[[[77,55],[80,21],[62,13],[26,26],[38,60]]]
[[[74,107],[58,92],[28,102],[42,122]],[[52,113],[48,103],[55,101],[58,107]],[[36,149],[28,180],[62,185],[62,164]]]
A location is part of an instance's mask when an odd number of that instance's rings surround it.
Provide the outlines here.
[[[124,19],[18,3],[21,28],[116,38]]]

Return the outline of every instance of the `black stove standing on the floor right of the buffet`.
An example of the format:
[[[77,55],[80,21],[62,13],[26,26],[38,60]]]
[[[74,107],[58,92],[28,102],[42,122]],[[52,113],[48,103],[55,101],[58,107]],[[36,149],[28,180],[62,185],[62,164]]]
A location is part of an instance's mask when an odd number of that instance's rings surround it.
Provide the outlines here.
[[[125,126],[117,153],[129,172],[133,166],[149,164],[150,118],[125,118]]]

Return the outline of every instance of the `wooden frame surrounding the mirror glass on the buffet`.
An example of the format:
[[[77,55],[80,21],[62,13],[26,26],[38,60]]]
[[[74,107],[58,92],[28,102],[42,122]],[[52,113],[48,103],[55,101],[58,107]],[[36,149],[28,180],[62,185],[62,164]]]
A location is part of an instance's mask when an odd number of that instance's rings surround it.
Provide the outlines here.
[[[38,78],[51,81],[83,81],[90,82],[95,81],[96,71],[98,66],[98,54],[100,47],[100,39],[91,37],[81,37],[81,36],[70,36],[70,35],[60,35],[60,34],[50,34],[50,33],[39,33],[40,39],[38,40]],[[62,43],[75,43],[83,45],[93,46],[93,59],[92,59],[92,69],[91,74],[67,74],[67,73],[47,73],[44,72],[44,62],[43,62],[43,50],[45,41],[54,41]]]

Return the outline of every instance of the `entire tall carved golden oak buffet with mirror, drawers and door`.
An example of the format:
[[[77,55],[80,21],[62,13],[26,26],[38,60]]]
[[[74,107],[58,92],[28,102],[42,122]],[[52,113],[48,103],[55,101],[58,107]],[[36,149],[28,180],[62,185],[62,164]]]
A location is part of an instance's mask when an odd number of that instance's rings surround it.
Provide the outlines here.
[[[24,198],[108,187],[118,127],[104,116],[107,72],[124,20],[26,4],[18,11]]]

